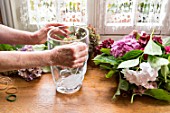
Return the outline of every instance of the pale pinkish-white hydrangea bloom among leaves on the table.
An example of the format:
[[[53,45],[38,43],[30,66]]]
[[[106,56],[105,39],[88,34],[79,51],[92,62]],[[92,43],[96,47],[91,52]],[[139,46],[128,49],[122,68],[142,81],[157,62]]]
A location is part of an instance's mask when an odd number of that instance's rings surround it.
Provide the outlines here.
[[[147,89],[153,89],[149,82],[155,81],[158,77],[158,69],[151,67],[149,63],[143,62],[140,64],[140,71],[134,71],[129,69],[123,69],[121,72],[124,74],[125,78],[137,86],[143,86]]]

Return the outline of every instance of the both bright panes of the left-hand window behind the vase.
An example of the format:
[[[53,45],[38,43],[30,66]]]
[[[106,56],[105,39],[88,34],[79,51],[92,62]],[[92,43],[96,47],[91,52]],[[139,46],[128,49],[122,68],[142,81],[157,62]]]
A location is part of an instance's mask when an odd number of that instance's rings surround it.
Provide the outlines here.
[[[87,0],[28,0],[28,9],[30,24],[87,23]]]

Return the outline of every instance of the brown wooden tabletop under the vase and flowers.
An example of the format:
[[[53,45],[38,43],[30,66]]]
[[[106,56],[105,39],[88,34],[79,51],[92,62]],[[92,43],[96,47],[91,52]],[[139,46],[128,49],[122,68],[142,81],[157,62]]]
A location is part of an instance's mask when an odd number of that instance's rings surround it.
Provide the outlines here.
[[[17,100],[8,102],[0,93],[0,113],[170,113],[170,104],[150,97],[118,97],[113,101],[116,81],[104,77],[106,71],[88,66],[83,87],[72,95],[57,93],[51,74],[26,82],[13,77]]]

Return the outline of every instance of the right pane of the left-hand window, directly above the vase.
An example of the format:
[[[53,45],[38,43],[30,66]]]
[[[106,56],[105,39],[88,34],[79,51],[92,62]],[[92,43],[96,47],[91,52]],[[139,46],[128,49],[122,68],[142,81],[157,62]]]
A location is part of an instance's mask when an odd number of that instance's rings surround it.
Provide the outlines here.
[[[87,0],[58,0],[59,21],[87,23]]]

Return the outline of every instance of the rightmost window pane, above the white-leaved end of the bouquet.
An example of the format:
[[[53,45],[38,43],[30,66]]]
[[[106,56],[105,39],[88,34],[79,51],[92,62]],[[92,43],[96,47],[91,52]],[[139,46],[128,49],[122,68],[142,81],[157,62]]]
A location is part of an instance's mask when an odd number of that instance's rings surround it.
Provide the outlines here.
[[[137,10],[137,23],[160,23],[163,0],[139,0]]]

